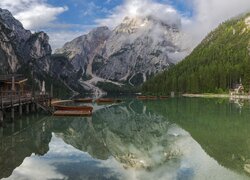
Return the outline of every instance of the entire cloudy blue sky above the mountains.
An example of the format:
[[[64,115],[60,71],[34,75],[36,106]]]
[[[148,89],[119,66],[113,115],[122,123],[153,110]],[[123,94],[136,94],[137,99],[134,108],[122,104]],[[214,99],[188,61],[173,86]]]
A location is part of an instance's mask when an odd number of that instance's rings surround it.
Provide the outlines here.
[[[0,0],[32,32],[45,31],[53,49],[98,26],[111,29],[126,16],[180,20],[193,46],[221,22],[250,11],[250,0]]]

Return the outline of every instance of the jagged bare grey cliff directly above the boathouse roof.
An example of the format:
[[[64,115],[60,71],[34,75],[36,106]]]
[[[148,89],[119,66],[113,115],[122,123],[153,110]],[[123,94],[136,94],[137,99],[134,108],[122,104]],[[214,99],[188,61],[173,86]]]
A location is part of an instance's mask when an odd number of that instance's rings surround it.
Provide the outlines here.
[[[4,73],[15,73],[24,65],[36,72],[49,72],[51,47],[44,32],[25,30],[8,10],[0,9],[0,52]]]

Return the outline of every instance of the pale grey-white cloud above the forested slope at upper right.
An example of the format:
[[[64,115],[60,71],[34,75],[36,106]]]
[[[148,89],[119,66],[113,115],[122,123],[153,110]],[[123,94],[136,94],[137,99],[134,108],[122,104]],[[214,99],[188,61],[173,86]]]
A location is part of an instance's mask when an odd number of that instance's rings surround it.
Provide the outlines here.
[[[250,10],[249,0],[192,0],[194,16],[184,24],[195,45],[220,23]]]

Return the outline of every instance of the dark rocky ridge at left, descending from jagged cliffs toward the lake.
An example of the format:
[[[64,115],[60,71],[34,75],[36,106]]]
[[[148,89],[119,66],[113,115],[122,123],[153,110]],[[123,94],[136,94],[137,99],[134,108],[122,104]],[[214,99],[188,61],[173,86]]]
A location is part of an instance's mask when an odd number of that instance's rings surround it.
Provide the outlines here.
[[[51,53],[49,37],[46,33],[32,34],[25,30],[8,10],[0,9],[1,74],[22,73],[25,76],[31,76],[33,71],[37,82],[56,79],[58,81],[56,86],[62,86],[72,92],[74,89],[83,91],[76,83],[80,77],[68,59],[52,57]]]

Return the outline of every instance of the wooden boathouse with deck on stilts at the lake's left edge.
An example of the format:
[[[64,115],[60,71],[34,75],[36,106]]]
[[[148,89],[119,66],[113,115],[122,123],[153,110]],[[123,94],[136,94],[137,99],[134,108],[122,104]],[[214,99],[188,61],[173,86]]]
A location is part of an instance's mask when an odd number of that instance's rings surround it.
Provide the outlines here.
[[[15,112],[21,116],[34,112],[38,107],[50,111],[52,97],[46,92],[34,92],[27,85],[28,79],[23,75],[0,75],[0,124],[3,123],[6,112],[10,112],[14,120]]]

